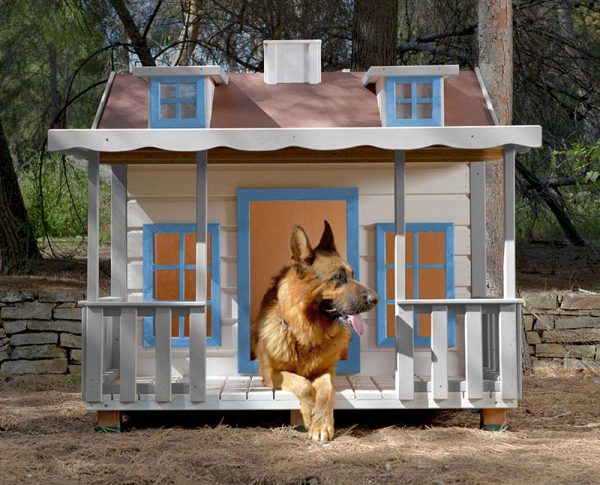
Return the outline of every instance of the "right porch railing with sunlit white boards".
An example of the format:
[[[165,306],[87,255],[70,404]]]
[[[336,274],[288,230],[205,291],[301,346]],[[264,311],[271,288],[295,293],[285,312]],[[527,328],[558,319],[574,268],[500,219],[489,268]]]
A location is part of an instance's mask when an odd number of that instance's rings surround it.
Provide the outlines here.
[[[431,398],[448,399],[448,320],[464,316],[465,392],[483,398],[484,373],[497,370],[503,400],[521,394],[518,299],[398,300],[396,390],[398,399],[415,398],[414,318],[431,315]],[[485,329],[485,330],[484,330]],[[495,362],[497,364],[495,364]],[[495,369],[497,367],[497,369]]]

